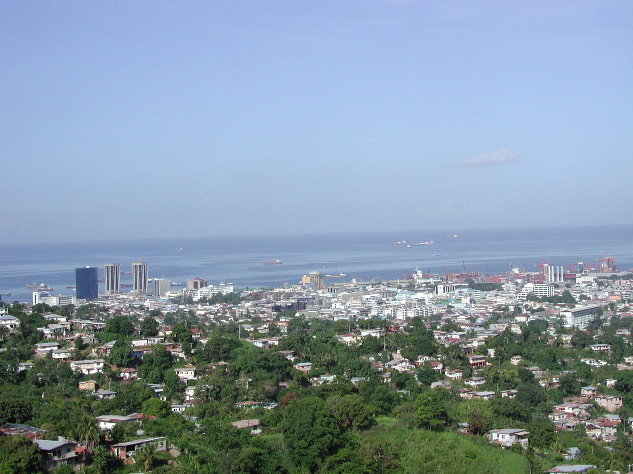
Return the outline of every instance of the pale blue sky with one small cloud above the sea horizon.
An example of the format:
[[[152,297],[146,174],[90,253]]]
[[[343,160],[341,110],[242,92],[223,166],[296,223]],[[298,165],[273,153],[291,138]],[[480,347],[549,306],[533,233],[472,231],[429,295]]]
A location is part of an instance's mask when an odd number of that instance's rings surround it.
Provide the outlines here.
[[[631,224],[632,13],[0,1],[0,239]]]

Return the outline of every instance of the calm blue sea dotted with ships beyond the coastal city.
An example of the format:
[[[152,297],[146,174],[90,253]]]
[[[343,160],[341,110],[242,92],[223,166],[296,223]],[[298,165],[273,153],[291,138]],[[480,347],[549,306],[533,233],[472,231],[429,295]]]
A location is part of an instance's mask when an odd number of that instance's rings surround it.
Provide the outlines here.
[[[460,238],[442,238],[446,234]],[[122,271],[130,271],[139,258],[147,262],[150,277],[182,283],[201,277],[210,284],[223,280],[251,288],[297,283],[311,270],[345,272],[348,281],[394,279],[415,267],[460,272],[463,260],[468,272],[483,274],[487,261],[496,274],[510,269],[510,263],[532,271],[541,258],[564,265],[578,257],[595,262],[605,252],[626,270],[633,267],[632,236],[633,226],[582,226],[9,244],[0,245],[0,293],[11,293],[3,300],[27,301],[32,290],[25,285],[37,281],[52,286],[54,295],[72,294],[65,284],[75,284],[76,267],[97,266],[103,277],[105,262],[118,262]],[[401,240],[435,244],[394,248],[393,242]],[[284,263],[262,264],[276,258]],[[122,275],[122,283],[130,281]]]

